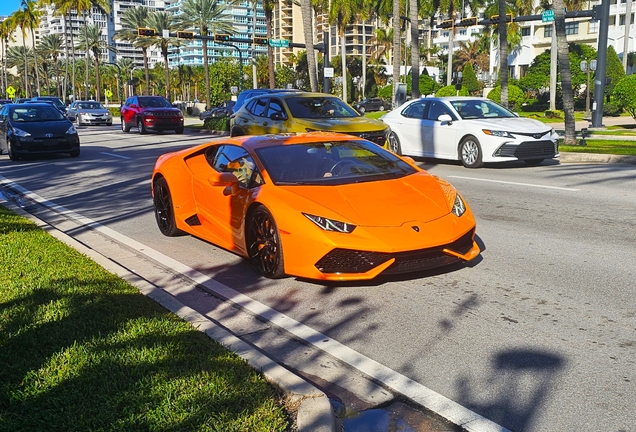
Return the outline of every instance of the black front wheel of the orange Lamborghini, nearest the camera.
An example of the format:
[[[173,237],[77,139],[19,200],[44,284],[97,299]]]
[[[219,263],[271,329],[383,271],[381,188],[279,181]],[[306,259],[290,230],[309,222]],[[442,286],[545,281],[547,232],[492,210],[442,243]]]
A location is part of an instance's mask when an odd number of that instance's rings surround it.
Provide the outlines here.
[[[247,253],[252,265],[270,279],[285,275],[283,249],[278,227],[272,214],[264,206],[257,207],[247,222]]]

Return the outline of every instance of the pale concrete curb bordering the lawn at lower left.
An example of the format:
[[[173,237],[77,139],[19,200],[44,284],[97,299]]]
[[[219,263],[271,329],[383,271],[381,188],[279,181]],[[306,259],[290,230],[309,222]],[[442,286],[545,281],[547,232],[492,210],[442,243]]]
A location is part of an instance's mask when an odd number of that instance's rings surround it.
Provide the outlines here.
[[[336,416],[331,402],[327,395],[313,384],[281,366],[257,347],[243,341],[204,315],[184,305],[160,287],[120,266],[94,249],[83,245],[14,203],[4,200],[2,196],[0,196],[0,205],[4,205],[15,213],[26,217],[56,239],[126,280],[135,286],[140,293],[155,300],[183,320],[188,321],[194,328],[204,332],[210,339],[220,343],[246,360],[254,369],[262,372],[270,383],[279,387],[286,394],[292,404],[297,404],[296,427],[298,432],[336,432]]]

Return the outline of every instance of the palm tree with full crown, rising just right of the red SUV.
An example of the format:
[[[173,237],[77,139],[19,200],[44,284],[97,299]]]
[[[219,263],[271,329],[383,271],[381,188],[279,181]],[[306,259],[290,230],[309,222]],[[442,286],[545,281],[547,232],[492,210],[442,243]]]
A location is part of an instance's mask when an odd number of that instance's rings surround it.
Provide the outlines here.
[[[184,0],[181,3],[180,14],[176,24],[181,29],[197,29],[201,36],[210,33],[234,33],[233,22],[225,14],[225,8],[230,7],[235,0]],[[203,47],[203,69],[205,71],[206,103],[210,104],[210,74],[208,65],[208,41],[201,41]]]

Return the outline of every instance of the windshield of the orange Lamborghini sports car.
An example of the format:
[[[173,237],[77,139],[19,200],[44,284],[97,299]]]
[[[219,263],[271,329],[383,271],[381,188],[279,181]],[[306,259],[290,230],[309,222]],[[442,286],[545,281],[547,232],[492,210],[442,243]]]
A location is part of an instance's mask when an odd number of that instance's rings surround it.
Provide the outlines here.
[[[257,149],[256,154],[277,185],[341,185],[417,172],[393,153],[365,141],[279,145]]]

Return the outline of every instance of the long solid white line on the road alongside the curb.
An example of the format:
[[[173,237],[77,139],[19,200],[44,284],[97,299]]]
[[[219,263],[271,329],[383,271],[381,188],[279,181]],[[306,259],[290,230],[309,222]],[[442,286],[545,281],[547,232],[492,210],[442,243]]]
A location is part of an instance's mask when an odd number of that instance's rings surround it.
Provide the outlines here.
[[[357,351],[349,348],[346,345],[341,344],[329,336],[312,329],[304,325],[303,323],[296,321],[295,319],[278,312],[269,306],[260,303],[230,287],[227,287],[214,279],[210,279],[203,273],[180,263],[159,251],[156,251],[134,239],[126,237],[108,227],[101,225],[87,217],[84,217],[78,213],[68,210],[60,205],[55,204],[52,201],[48,201],[34,192],[23,188],[22,186],[0,176],[0,184],[7,185],[11,189],[14,189],[22,195],[38,202],[39,204],[54,210],[64,216],[75,220],[76,222],[90,227],[95,231],[98,231],[113,240],[116,240],[137,252],[146,255],[147,257],[158,261],[172,270],[179,272],[194,282],[201,284],[209,290],[215,292],[222,298],[241,306],[242,308],[250,311],[252,314],[270,321],[274,325],[286,330],[293,334],[297,338],[300,338],[315,346],[318,349],[336,357],[343,363],[346,363],[353,368],[359,370],[363,374],[375,379],[377,382],[384,384],[386,387],[392,389],[396,393],[400,393],[403,396],[413,400],[414,402],[422,405],[423,407],[441,415],[449,420],[451,423],[463,427],[469,432],[510,432],[508,429],[488,420],[485,417],[475,413],[474,411],[465,408],[458,403],[448,399],[445,396],[429,389],[428,387],[412,380],[380,363],[377,361],[360,354]]]

